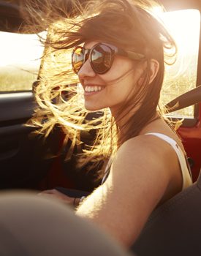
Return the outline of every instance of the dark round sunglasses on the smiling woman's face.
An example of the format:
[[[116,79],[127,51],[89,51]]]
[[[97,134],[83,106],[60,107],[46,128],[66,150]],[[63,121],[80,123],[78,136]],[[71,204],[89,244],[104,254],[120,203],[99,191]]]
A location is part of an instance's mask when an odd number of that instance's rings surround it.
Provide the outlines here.
[[[145,56],[141,53],[122,50],[115,45],[99,42],[91,49],[77,46],[72,50],[72,69],[77,74],[89,59],[91,68],[96,74],[105,74],[112,67],[116,55],[125,56],[133,60],[145,59]]]

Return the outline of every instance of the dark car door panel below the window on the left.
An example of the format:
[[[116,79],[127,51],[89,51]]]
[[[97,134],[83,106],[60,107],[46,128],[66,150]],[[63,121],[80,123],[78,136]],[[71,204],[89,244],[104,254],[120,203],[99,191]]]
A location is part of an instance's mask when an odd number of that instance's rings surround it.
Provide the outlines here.
[[[31,92],[0,94],[0,189],[37,189],[53,161],[45,159],[48,143],[25,125],[35,106]]]

